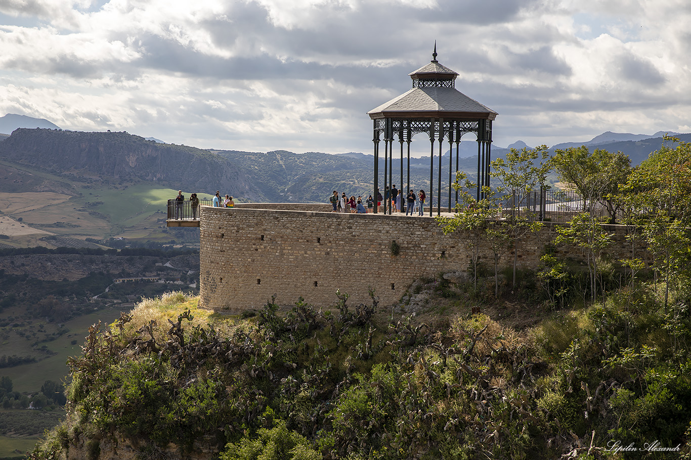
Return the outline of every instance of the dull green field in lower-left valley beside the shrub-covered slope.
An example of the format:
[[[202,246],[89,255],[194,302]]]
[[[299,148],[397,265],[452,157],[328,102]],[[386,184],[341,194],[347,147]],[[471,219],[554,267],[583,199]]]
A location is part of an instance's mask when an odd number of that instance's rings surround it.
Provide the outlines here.
[[[122,309],[108,308],[67,321],[65,326],[70,332],[46,343],[48,349],[57,354],[36,363],[0,369],[0,376],[10,377],[15,390],[19,392],[37,392],[46,380],[65,381],[69,374],[66,361],[68,357],[82,352],[80,347],[88,335],[88,327],[99,320],[104,324],[112,323],[120,318],[121,311],[129,311],[131,308],[131,305],[123,306]],[[72,345],[74,340],[77,343]]]

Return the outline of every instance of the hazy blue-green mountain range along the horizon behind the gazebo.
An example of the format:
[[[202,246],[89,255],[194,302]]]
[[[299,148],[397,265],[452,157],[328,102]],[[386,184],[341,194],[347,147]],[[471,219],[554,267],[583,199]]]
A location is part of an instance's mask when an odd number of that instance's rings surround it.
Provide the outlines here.
[[[41,124],[50,128],[34,128]],[[16,128],[17,125],[32,128]],[[172,189],[210,194],[215,190],[225,190],[243,201],[268,202],[321,202],[332,190],[365,195],[370,193],[372,184],[372,154],[361,152],[296,154],[285,150],[202,150],[163,143],[160,139],[145,139],[127,132],[60,130],[50,121],[15,114],[0,117],[0,132],[3,130],[12,134],[0,140],[0,160],[8,161],[12,166],[38,168],[81,183],[101,181],[120,186],[156,183]],[[647,137],[645,134],[605,132],[585,143],[560,143],[550,150],[585,145],[624,152],[633,164],[637,164],[660,148],[664,142],[663,134],[665,132],[657,132],[653,137]],[[670,134],[691,141],[691,134]],[[465,141],[460,146],[460,169],[472,178],[477,174],[477,143]],[[523,147],[527,145],[522,141],[509,146]],[[504,157],[508,151],[507,148],[494,147],[492,158]],[[400,160],[397,149],[394,152],[392,170],[394,182],[399,183]],[[435,172],[438,161],[435,155],[432,161]],[[442,162],[448,168],[448,150]],[[411,188],[428,188],[429,168],[429,157],[410,159]],[[383,188],[382,157],[379,171],[380,188]],[[446,173],[442,176],[446,176],[442,177],[445,190],[448,176]],[[404,171],[403,179],[407,182],[407,171]]]

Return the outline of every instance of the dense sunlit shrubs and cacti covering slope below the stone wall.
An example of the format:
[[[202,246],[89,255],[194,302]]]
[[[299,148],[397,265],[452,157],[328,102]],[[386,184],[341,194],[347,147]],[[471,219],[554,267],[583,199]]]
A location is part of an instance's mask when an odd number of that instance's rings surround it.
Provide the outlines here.
[[[468,304],[422,323],[345,294],[331,311],[269,303],[249,319],[196,301],[167,294],[92,328],[70,363],[68,417],[30,457],[97,458],[113,438],[223,459],[668,458],[607,450],[616,441],[689,452],[689,299],[664,312],[652,286],[520,331]]]

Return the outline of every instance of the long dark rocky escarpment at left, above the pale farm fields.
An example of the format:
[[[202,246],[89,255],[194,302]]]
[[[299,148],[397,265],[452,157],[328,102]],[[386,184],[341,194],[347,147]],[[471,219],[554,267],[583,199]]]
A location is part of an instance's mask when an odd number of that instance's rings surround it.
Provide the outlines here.
[[[0,143],[0,159],[53,174],[171,188],[231,188],[248,199],[263,192],[229,159],[189,146],[156,143],[127,132],[19,128]]]

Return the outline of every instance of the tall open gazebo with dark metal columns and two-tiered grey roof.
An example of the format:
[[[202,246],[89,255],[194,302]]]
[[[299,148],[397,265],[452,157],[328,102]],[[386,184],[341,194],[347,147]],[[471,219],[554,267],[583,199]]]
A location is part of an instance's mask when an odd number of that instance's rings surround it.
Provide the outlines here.
[[[408,188],[410,190],[410,142],[413,135],[426,132],[430,138],[430,185],[428,203],[430,217],[433,215],[434,154],[435,141],[439,142],[439,168],[437,174],[437,215],[442,211],[442,144],[448,140],[448,211],[451,212],[451,184],[453,183],[453,143],[456,144],[456,165],[458,171],[458,150],[461,137],[474,132],[477,135],[477,199],[483,197],[482,187],[489,186],[489,163],[491,160],[492,121],[498,113],[467,97],[455,88],[456,72],[437,61],[435,43],[432,61],[415,72],[411,72],[413,88],[381,106],[370,110],[368,115],[374,121],[375,143],[375,201],[379,190],[379,141],[384,137],[384,193],[393,181],[393,141],[401,143],[401,188],[403,187],[403,144],[408,144]],[[388,171],[387,171],[388,168]],[[455,175],[453,176],[455,177]],[[388,203],[387,203],[388,201]],[[458,192],[456,192],[456,203]],[[375,212],[378,209],[375,206]],[[384,213],[391,213],[390,200],[384,200]]]

